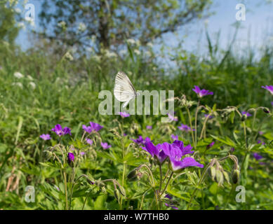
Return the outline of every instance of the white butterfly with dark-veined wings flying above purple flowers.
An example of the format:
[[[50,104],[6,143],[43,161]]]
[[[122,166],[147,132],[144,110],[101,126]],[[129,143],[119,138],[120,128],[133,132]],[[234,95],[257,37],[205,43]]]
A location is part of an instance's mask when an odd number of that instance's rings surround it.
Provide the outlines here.
[[[119,71],[116,74],[114,83],[114,97],[116,97],[119,102],[125,102],[122,108],[126,107],[130,100],[138,95],[139,93],[135,91],[135,87],[133,87],[131,80],[126,76],[126,73]]]

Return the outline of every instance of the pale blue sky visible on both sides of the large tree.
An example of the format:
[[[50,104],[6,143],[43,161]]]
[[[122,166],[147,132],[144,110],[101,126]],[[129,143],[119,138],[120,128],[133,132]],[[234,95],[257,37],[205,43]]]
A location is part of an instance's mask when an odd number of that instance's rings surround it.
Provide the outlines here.
[[[251,43],[252,46],[258,48],[265,41],[273,42],[273,3],[265,4],[264,2],[265,0],[214,0],[212,7],[214,15],[207,20],[199,20],[182,27],[176,35],[166,34],[164,39],[169,46],[175,46],[178,41],[183,41],[185,50],[202,51],[206,49],[206,36],[204,35],[206,21],[209,34],[213,36],[217,31],[221,32],[220,45],[222,48],[225,48],[234,33],[232,25],[236,22],[235,15],[237,10],[235,7],[237,3],[244,3],[246,6],[246,21],[240,22],[241,28],[237,35],[237,45],[240,48]],[[17,43],[21,45],[23,50],[32,45],[28,38],[29,31],[40,28],[38,15],[41,10],[41,1],[29,0],[27,3],[32,3],[35,6],[35,27],[27,25],[25,29],[20,31]],[[18,8],[22,10],[24,15],[25,10],[21,6],[18,6]]]

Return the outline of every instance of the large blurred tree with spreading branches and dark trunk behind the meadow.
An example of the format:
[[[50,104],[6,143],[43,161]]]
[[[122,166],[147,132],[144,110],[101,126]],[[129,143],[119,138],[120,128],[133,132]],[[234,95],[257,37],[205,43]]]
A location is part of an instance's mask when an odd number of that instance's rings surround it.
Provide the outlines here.
[[[210,6],[209,0],[44,0],[40,34],[97,52],[116,49],[128,38],[145,45],[203,17]]]

